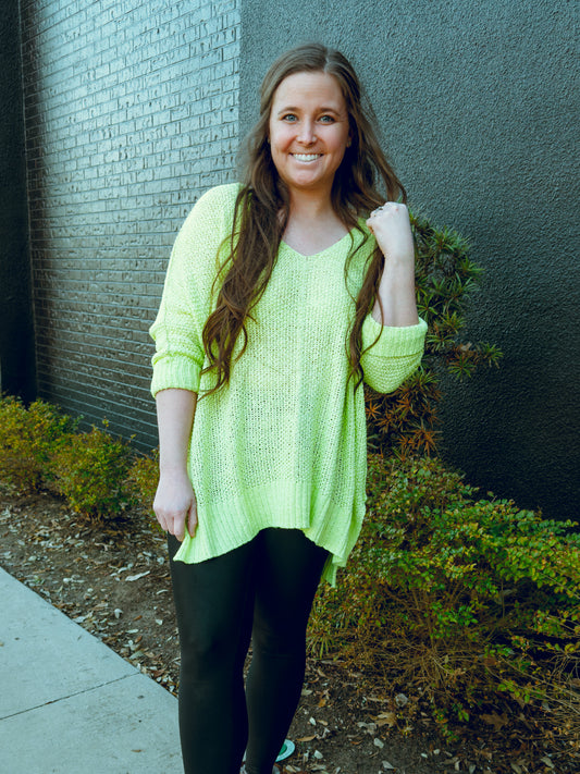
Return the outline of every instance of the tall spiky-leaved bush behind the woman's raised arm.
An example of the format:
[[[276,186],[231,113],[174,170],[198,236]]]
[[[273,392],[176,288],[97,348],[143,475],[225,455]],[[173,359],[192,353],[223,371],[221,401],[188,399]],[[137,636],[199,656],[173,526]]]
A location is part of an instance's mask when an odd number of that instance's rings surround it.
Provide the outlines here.
[[[469,244],[457,232],[437,230],[411,213],[416,245],[416,292],[419,315],[429,331],[421,368],[390,395],[366,388],[371,446],[398,456],[432,454],[437,446],[440,377],[472,376],[479,366],[497,365],[502,353],[492,344],[461,336],[467,305],[479,288],[482,269],[469,258]]]

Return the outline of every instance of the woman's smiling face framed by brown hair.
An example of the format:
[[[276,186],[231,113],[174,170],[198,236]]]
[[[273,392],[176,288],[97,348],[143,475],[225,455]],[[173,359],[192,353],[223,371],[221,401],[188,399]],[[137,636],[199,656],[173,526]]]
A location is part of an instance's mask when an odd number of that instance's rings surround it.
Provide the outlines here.
[[[336,78],[323,72],[285,77],[272,100],[269,138],[272,160],[291,194],[330,198],[349,145],[348,111]]]

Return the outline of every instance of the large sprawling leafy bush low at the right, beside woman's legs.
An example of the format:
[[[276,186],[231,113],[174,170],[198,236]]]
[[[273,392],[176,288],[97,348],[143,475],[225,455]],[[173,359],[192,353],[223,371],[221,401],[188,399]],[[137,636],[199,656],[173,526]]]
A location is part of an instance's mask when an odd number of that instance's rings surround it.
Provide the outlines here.
[[[444,725],[502,700],[554,717],[576,701],[578,724],[572,523],[476,500],[436,459],[369,463],[368,517],[340,585],[319,592],[313,651],[340,653],[375,689],[416,691]]]

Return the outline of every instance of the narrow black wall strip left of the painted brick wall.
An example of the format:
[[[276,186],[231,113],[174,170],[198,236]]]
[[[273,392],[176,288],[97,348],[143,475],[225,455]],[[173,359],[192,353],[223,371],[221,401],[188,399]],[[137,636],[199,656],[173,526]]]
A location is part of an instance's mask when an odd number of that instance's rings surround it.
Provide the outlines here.
[[[0,21],[0,392],[32,400],[35,357],[17,3]]]

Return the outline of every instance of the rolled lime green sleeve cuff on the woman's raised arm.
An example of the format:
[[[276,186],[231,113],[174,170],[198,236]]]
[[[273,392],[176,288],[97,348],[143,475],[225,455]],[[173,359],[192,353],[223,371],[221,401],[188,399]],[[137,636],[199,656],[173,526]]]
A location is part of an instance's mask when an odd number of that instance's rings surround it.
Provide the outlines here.
[[[362,323],[361,366],[365,381],[377,392],[393,392],[421,363],[427,322],[416,325],[382,325],[368,315]]]

